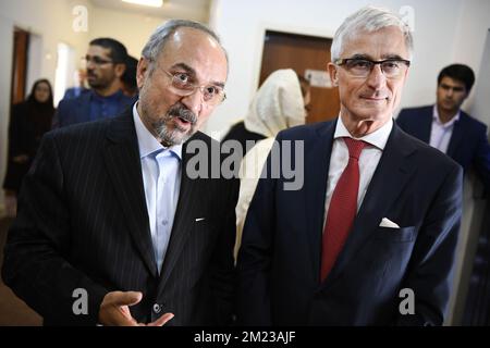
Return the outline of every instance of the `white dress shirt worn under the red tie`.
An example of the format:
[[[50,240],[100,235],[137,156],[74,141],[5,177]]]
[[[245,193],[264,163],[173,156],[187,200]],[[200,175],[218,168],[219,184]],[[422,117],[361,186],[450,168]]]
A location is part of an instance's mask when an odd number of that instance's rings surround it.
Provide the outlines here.
[[[344,169],[348,163],[348,148],[345,145],[342,137],[350,137],[356,140],[363,140],[371,146],[365,147],[359,157],[359,191],[357,195],[357,211],[363,203],[364,196],[366,196],[367,188],[371,182],[372,174],[375,174],[378,166],[381,154],[383,153],[388,138],[390,137],[391,129],[393,128],[393,119],[390,119],[381,128],[368,134],[362,138],[354,138],[348,133],[342,117],[339,116],[336,122],[335,133],[333,135],[332,154],[330,157],[329,176],[327,181],[327,199],[326,199],[326,213],[323,216],[323,223],[327,219],[327,212],[330,208],[330,201],[332,199],[333,190],[339,182]]]

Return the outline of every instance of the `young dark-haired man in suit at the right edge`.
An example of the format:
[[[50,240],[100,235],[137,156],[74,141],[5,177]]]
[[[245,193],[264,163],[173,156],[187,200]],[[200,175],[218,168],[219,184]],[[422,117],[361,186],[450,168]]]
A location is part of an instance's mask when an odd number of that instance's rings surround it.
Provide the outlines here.
[[[469,66],[444,67],[438,77],[436,105],[403,109],[396,123],[409,135],[451,157],[465,171],[474,166],[490,191],[487,125],[461,110],[474,83],[475,74]]]

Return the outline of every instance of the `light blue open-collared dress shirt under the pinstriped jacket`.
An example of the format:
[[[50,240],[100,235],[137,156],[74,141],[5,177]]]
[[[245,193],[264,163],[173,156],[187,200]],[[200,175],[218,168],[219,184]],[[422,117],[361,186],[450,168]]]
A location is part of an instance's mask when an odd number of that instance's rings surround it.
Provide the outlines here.
[[[151,135],[133,107],[133,119],[142,160],[143,184],[151,241],[158,272],[161,271],[172,233],[181,188],[182,145],[164,148]]]

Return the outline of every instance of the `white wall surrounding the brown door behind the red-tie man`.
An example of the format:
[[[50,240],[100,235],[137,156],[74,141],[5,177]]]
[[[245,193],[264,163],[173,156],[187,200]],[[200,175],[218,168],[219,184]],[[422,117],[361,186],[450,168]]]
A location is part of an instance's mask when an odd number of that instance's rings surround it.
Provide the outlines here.
[[[218,108],[207,132],[226,128],[243,116],[258,85],[266,29],[332,37],[342,21],[364,0],[215,0],[210,24],[230,54],[228,100]],[[479,59],[489,24],[490,2],[486,0],[379,0],[377,5],[399,11],[414,9],[415,59],[401,107],[432,103],[439,71],[454,61],[473,66]],[[326,62],[327,63],[327,62]]]

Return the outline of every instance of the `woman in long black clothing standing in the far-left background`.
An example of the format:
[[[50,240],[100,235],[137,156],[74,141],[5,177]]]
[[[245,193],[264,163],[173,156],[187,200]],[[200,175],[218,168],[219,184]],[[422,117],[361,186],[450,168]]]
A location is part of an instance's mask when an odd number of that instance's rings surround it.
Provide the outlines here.
[[[27,100],[13,105],[9,127],[9,162],[3,182],[9,215],[15,215],[15,199],[42,135],[50,130],[54,115],[51,84],[47,79],[34,83]]]

